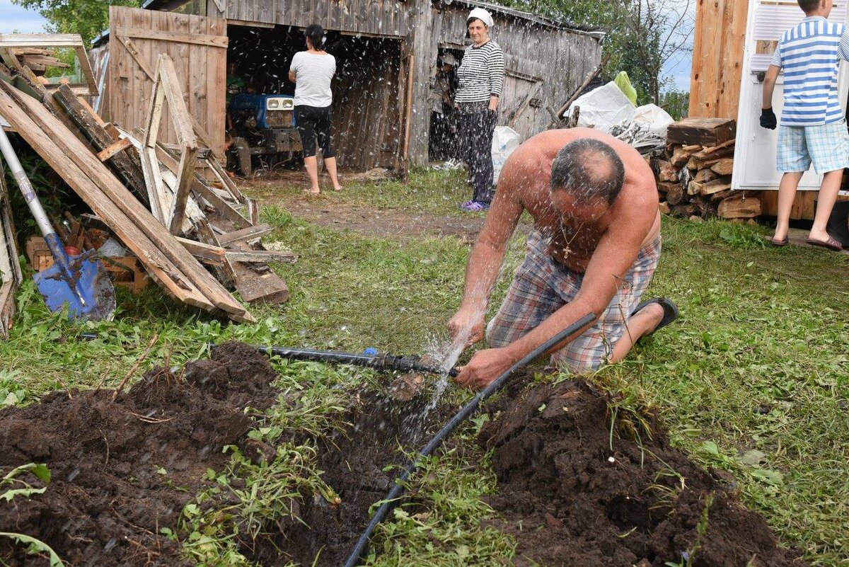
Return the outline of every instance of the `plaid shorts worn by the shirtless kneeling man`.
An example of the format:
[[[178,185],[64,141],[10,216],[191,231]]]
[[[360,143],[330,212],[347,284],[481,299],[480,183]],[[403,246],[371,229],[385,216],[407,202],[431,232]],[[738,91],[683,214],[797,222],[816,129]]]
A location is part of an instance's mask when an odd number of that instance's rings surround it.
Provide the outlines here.
[[[658,233],[657,238],[640,250],[601,317],[582,335],[555,352],[552,361],[574,372],[599,368],[625,333],[627,318],[649,287],[660,257],[661,234]],[[498,314],[486,326],[487,342],[498,347],[520,339],[574,300],[582,282],[582,273],[572,272],[548,255],[542,235],[534,230],[528,236],[525,261],[516,270]]]

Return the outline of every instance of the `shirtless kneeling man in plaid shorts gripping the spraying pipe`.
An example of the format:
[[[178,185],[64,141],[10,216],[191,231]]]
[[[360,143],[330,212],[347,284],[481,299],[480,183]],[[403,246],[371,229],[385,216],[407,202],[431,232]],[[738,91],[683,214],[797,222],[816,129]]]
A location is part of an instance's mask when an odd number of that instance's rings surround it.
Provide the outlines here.
[[[589,312],[598,319],[554,353],[573,371],[623,359],[646,334],[678,317],[671,300],[638,301],[661,254],[655,176],[627,143],[589,128],[549,130],[515,149],[466,267],[458,312],[448,323],[467,345],[484,334],[492,288],[522,211],[534,218],[527,255],[498,315],[493,348],[458,368],[480,389]]]

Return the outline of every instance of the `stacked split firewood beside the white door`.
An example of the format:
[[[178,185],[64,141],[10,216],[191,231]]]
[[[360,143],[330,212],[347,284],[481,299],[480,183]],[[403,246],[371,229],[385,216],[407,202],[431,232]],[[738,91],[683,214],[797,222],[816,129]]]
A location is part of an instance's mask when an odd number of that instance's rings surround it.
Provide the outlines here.
[[[688,118],[669,126],[666,154],[652,166],[658,176],[661,212],[673,216],[752,218],[761,201],[731,190],[733,120]]]

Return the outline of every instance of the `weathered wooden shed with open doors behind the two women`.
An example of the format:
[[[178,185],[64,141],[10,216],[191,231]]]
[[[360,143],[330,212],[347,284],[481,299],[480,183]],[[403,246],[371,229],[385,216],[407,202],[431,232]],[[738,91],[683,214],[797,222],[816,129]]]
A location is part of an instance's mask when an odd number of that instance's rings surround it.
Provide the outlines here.
[[[491,35],[505,53],[500,122],[527,138],[545,129],[554,109],[599,65],[604,34],[464,0],[149,0],[143,9],[113,6],[110,34],[93,49],[94,67],[107,70],[98,104],[109,120],[143,127],[150,70],[158,53],[168,53],[201,136],[220,148],[228,65],[250,75],[258,93],[294,93],[286,77],[291,58],[304,48],[303,28],[318,23],[337,59],[340,166],[424,165],[437,58],[445,51],[462,54],[466,17],[477,6],[491,10]]]

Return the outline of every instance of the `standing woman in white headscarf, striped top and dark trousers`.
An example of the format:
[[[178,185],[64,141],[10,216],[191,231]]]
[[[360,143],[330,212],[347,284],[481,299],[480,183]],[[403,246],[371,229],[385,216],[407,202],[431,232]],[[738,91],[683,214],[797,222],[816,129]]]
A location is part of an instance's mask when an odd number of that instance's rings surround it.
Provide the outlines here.
[[[469,167],[472,199],[460,208],[486,211],[495,190],[492,184],[492,133],[498,121],[498,102],[504,84],[504,53],[489,32],[492,15],[474,8],[466,20],[472,44],[457,70],[459,86],[454,104],[460,111],[460,143]]]

